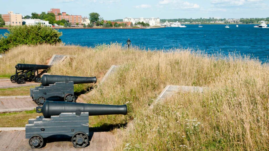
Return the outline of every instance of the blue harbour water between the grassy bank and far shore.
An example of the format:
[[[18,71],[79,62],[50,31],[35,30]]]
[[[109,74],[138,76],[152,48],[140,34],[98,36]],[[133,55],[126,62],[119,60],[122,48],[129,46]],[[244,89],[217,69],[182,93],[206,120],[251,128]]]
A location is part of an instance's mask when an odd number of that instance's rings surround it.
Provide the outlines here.
[[[269,28],[253,28],[254,25],[186,25],[186,28],[166,27],[157,29],[59,29],[66,44],[95,46],[119,42],[150,49],[194,48],[225,55],[237,52],[266,62],[269,56]],[[0,30],[0,34],[7,30]]]

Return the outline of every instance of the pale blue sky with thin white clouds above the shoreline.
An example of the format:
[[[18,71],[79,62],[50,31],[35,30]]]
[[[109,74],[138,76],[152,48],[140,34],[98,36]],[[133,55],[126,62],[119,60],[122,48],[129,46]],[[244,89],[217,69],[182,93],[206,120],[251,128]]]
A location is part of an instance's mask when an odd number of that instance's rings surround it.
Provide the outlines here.
[[[105,20],[125,17],[266,18],[269,0],[0,0],[0,14],[8,11],[31,15],[59,8],[69,15],[97,12]]]

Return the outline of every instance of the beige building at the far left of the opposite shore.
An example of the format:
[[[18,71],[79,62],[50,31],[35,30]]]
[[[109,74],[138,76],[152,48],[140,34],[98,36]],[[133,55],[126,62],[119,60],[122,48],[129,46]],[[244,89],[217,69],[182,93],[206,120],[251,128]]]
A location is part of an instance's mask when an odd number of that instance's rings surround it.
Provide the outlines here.
[[[8,14],[2,14],[5,25],[22,25],[22,14],[13,14],[13,11],[8,11]]]

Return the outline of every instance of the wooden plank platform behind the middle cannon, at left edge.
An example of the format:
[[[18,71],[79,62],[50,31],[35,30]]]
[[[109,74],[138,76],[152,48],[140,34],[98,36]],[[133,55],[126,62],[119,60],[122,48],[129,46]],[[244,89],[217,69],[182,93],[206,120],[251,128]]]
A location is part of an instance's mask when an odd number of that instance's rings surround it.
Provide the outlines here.
[[[29,111],[35,109],[37,106],[30,96],[0,97],[0,113]]]

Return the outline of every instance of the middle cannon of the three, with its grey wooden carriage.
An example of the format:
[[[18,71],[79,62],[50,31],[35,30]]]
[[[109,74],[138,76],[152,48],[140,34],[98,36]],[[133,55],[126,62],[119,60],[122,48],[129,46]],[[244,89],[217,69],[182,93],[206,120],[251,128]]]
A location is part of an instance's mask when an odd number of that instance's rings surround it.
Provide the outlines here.
[[[74,84],[96,83],[96,77],[71,77],[64,75],[43,75],[40,87],[30,89],[30,96],[42,105],[50,97],[62,97],[65,102],[75,102]]]

